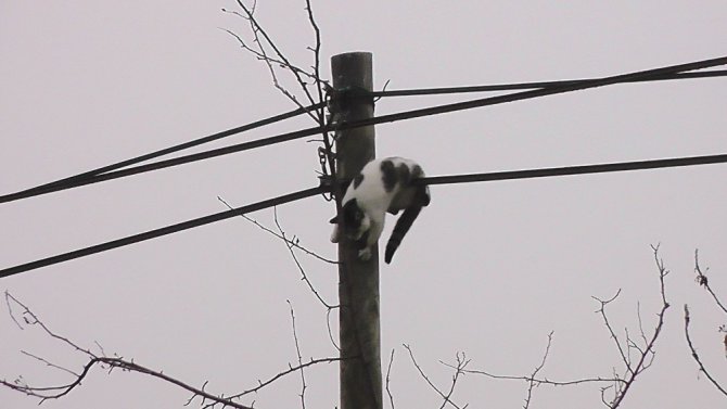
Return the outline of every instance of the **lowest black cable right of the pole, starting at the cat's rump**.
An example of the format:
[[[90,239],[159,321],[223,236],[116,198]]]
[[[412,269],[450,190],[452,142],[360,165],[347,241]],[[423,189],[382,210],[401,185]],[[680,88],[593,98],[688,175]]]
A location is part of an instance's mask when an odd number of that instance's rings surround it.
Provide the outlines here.
[[[488,182],[496,180],[534,179],[534,178],[547,178],[553,176],[604,174],[613,171],[659,169],[668,167],[697,166],[697,165],[710,165],[720,163],[727,163],[727,154],[675,157],[666,159],[621,162],[621,163],[597,164],[597,165],[564,166],[564,167],[551,167],[541,169],[494,171],[487,174],[434,176],[418,179],[416,183],[432,186],[432,184]]]

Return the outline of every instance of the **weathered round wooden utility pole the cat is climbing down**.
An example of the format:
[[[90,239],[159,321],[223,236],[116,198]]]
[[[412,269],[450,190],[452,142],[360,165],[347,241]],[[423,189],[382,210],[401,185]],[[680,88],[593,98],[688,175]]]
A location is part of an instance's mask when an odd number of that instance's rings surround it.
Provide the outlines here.
[[[352,52],[331,57],[333,88],[342,95],[337,120],[373,117],[373,101],[354,98],[373,89],[372,55]],[[375,157],[373,126],[336,133],[339,180],[358,175]],[[382,409],[381,325],[379,320],[379,248],[361,261],[349,240],[339,242],[339,323],[341,409]]]

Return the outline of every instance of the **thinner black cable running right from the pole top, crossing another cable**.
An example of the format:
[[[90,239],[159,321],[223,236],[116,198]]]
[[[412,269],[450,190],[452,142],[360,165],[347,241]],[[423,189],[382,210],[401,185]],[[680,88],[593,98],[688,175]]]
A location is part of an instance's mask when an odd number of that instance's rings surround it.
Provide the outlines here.
[[[727,76],[727,69],[715,69],[715,71],[697,72],[697,73],[664,74],[656,77],[637,78],[624,82],[664,81],[673,79],[713,78],[713,77],[726,77],[726,76]],[[494,84],[494,85],[468,86],[468,87],[420,88],[420,89],[400,89],[390,91],[384,90],[384,91],[369,92],[367,93],[367,97],[373,97],[373,98],[416,97],[416,95],[439,95],[439,94],[470,93],[470,92],[512,91],[520,89],[573,86],[584,81],[591,81],[594,79],[596,78],[564,79],[564,80],[538,81],[538,82]]]

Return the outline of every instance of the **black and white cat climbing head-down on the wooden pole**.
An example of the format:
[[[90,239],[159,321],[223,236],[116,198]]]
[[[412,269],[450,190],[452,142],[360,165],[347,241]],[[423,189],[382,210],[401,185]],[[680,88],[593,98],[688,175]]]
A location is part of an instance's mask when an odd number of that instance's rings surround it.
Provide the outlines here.
[[[391,263],[411,223],[430,203],[429,187],[412,183],[413,179],[422,177],[421,166],[404,157],[385,157],[366,164],[346,189],[341,203],[342,214],[331,219],[335,225],[331,242],[337,243],[343,230],[345,237],[356,242],[358,257],[368,260],[371,247],[384,229],[386,212],[396,215],[404,210],[386,244],[384,260]]]

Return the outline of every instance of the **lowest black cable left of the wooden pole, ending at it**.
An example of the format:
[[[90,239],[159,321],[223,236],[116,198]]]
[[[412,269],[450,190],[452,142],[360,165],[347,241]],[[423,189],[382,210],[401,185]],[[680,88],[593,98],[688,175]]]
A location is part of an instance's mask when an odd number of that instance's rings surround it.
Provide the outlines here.
[[[267,208],[267,207],[272,207],[272,206],[281,205],[281,204],[284,204],[284,203],[297,201],[297,200],[301,200],[301,199],[315,196],[315,195],[323,193],[323,192],[324,192],[324,189],[321,188],[321,187],[310,188],[310,189],[302,190],[302,191],[298,191],[298,192],[284,194],[282,196],[278,196],[278,197],[268,199],[268,200],[265,200],[265,201],[262,201],[262,202],[253,203],[253,204],[250,204],[250,205],[246,205],[246,206],[237,207],[237,208],[231,209],[231,210],[216,213],[216,214],[200,217],[200,218],[196,218],[196,219],[182,221],[182,222],[179,222],[179,223],[176,223],[176,225],[166,226],[166,227],[163,227],[163,228],[160,228],[160,229],[145,231],[143,233],[129,235],[129,237],[126,237],[126,238],[123,238],[123,239],[112,240],[110,242],[92,245],[90,247],[79,248],[79,250],[76,250],[76,251],[73,251],[73,252],[59,254],[59,255],[55,255],[55,256],[52,256],[52,257],[47,257],[47,258],[42,258],[42,259],[39,259],[39,260],[35,260],[35,261],[13,266],[13,267],[9,267],[9,268],[0,270],[0,278],[17,274],[17,273],[24,272],[24,271],[35,270],[35,269],[40,268],[40,267],[51,266],[51,265],[54,265],[54,264],[72,260],[74,258],[80,258],[80,257],[89,256],[91,254],[105,252],[105,251],[109,251],[109,250],[112,250],[112,248],[127,246],[129,244],[139,243],[139,242],[143,242],[143,241],[146,241],[146,240],[161,238],[163,235],[176,233],[176,232],[179,232],[179,231],[182,231],[182,230],[188,230],[188,229],[192,229],[192,228],[195,228],[195,227],[213,223],[215,221],[229,219],[229,218],[234,217],[234,216],[244,215],[244,214],[250,213],[250,212],[260,210],[260,209],[264,209],[264,208]]]

